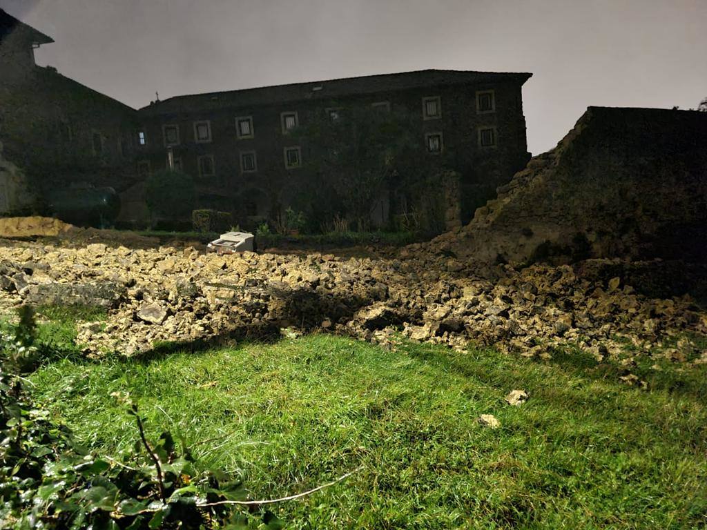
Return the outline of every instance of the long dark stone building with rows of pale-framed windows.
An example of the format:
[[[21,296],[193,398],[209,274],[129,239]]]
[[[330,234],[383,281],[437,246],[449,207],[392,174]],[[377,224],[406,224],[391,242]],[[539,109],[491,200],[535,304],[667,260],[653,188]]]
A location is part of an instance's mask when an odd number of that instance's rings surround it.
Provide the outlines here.
[[[521,87],[531,75],[424,70],[177,96],[140,110],[136,165],[147,175],[171,156],[197,179],[199,206],[233,211],[239,220],[273,218],[291,205],[295,189],[321,186],[309,164],[321,146],[308,126],[369,107],[406,120],[421,163],[438,175],[429,191],[448,187],[466,221],[530,158]],[[443,182],[445,170],[457,182]],[[415,201],[392,206],[394,191],[371,204],[378,223]]]

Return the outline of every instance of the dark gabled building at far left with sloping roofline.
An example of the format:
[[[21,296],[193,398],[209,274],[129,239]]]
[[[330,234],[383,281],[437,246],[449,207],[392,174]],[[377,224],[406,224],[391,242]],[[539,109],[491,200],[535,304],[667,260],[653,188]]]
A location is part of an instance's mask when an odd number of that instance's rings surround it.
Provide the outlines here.
[[[70,186],[134,184],[137,111],[35,64],[34,49],[54,42],[0,9],[0,141],[24,175],[0,177],[0,211],[41,208]]]

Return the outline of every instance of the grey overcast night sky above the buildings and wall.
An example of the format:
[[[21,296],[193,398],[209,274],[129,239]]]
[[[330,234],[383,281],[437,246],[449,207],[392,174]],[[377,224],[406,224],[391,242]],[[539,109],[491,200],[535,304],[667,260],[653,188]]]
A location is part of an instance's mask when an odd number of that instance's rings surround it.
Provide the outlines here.
[[[696,107],[707,0],[0,0],[50,64],[132,107],[418,69],[529,71],[528,147],[589,105]]]

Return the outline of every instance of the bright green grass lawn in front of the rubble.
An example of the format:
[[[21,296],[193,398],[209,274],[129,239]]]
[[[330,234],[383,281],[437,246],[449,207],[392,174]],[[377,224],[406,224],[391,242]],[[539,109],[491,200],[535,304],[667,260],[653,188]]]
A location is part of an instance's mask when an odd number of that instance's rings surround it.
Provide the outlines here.
[[[149,360],[55,360],[37,400],[81,442],[118,452],[136,427],[181,433],[288,528],[622,528],[707,524],[707,372],[643,391],[586,360],[520,360],[315,335]],[[681,376],[682,377],[682,376]],[[653,383],[653,382],[651,382]],[[525,389],[520,407],[503,402]],[[482,428],[491,413],[501,428]]]

